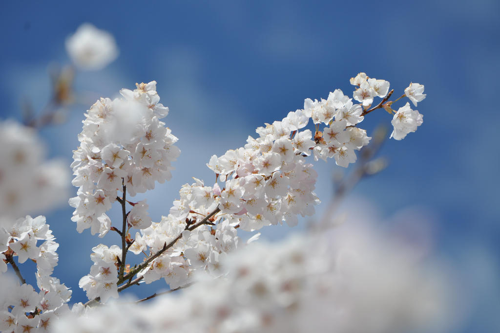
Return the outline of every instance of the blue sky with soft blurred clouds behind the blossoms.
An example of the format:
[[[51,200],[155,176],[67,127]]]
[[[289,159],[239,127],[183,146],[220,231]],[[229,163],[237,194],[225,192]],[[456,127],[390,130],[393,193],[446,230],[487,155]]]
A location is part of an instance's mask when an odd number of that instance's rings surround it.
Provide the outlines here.
[[[85,22],[110,32],[120,54],[98,72],[77,73],[77,105],[67,119],[40,130],[50,157],[67,161],[78,146],[83,112],[100,96],[115,97],[135,82],[157,81],[170,108],[167,126],[182,153],[173,179],[146,197],[153,221],[167,214],[191,177],[211,184],[212,154],[245,143],[263,123],[326,98],[358,72],[385,79],[400,96],[409,82],[425,85],[418,104],[423,125],[402,142],[387,140],[389,161],[362,180],[347,207],[431,253],[453,276],[456,332],[500,327],[500,209],[498,125],[500,3],[496,0],[420,2],[3,2],[0,5],[1,119],[22,120],[29,101],[41,110],[51,94],[48,72],[70,63],[65,39]],[[401,105],[397,106],[402,106]],[[382,110],[362,123],[390,126]],[[316,163],[317,218],[330,218],[334,163]],[[76,188],[70,188],[71,196]],[[54,276],[85,301],[78,280],[89,271],[90,248],[118,243],[78,234],[72,208],[40,212],[60,243]],[[120,219],[116,206],[111,218]],[[349,216],[347,215],[347,221]],[[295,229],[262,230],[273,240]],[[161,286],[160,286],[161,287]],[[130,288],[143,297],[158,286]]]

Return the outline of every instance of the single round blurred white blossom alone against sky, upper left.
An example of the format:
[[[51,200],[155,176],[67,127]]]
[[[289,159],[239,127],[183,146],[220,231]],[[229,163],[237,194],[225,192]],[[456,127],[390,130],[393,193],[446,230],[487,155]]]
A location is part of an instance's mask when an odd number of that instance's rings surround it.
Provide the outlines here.
[[[66,39],[66,51],[78,68],[90,71],[104,68],[118,56],[114,37],[89,23]]]

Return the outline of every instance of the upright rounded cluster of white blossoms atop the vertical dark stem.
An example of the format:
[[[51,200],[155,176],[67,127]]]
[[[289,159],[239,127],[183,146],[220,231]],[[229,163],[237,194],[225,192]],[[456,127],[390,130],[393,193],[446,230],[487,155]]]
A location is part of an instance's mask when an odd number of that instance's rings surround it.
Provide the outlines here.
[[[69,200],[75,208],[76,229],[104,236],[111,227],[105,212],[116,200],[117,190],[134,196],[154,188],[157,181],[171,178],[171,162],[179,155],[177,138],[159,119],[168,108],[159,103],[156,82],[136,84],[133,91],[122,89],[123,98],[101,98],[85,114],[80,146],[73,152],[77,196]],[[137,206],[147,207],[145,202]],[[132,212],[130,219],[136,216]],[[147,227],[136,219],[136,228]]]

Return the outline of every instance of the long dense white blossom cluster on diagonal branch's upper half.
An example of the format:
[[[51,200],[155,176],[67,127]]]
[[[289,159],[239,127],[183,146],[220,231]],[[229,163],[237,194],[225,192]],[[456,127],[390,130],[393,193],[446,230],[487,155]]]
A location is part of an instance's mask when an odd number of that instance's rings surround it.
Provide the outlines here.
[[[340,89],[330,92],[327,99],[306,99],[302,110],[257,128],[259,137],[248,137],[244,147],[220,157],[213,155],[207,166],[225,184],[222,190],[217,183],[213,188],[197,190],[198,198],[193,203],[200,201],[200,195],[218,199],[220,210],[230,219],[237,219],[233,224],[243,230],[282,221],[295,225],[298,214],[312,215],[314,205],[319,203],[313,192],[317,175],[305,157],[312,154],[314,160],[334,158],[342,167],[354,163],[355,151],[371,139],[358,124],[371,112],[374,97],[388,96],[387,81],[370,79],[364,73],[352,78],[351,84],[357,87],[353,99],[361,104],[354,104]],[[401,119],[403,112],[398,111],[395,119]],[[314,134],[303,129],[309,119],[315,125]],[[321,125],[324,127],[320,131]],[[185,212],[195,210],[182,200],[178,207],[184,207]]]

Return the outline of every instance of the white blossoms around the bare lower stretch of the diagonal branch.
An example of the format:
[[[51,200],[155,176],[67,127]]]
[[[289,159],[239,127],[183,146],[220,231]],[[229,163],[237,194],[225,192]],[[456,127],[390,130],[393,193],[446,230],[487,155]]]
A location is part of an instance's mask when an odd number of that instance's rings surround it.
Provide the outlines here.
[[[235,226],[228,220],[221,221],[217,215],[213,215],[208,224],[193,228],[202,218],[216,211],[218,205],[213,198],[204,197],[209,189],[203,186],[201,180],[195,180],[192,185],[182,186],[180,199],[174,201],[168,216],[140,230],[141,234],[135,234],[135,241],[130,247],[135,254],[146,249],[156,253],[165,243],[181,235],[172,247],[138,272],[137,275],[142,276],[146,283],[163,278],[170,288],[176,288],[187,284],[195,269],[220,276],[217,268],[219,259],[238,245]]]

